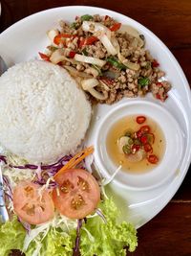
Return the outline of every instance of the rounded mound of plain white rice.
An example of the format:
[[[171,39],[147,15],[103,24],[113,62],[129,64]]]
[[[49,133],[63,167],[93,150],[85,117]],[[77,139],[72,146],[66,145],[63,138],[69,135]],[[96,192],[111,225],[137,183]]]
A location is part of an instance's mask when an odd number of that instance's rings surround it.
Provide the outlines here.
[[[0,143],[32,163],[74,152],[90,118],[84,92],[57,65],[22,62],[0,78]]]

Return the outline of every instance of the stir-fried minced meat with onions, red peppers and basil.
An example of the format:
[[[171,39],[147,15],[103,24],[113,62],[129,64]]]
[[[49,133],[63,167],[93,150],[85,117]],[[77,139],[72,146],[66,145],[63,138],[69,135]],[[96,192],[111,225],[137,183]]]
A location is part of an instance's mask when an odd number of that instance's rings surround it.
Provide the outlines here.
[[[145,96],[148,92],[162,102],[167,99],[171,85],[161,81],[156,88],[163,72],[160,73],[158,60],[144,49],[144,35],[137,29],[108,15],[90,14],[76,16],[71,24],[61,22],[60,26],[60,31],[48,31],[51,45],[48,53],[40,56],[64,68],[70,66],[70,73],[82,88],[85,73],[88,79],[100,81],[96,86],[102,86],[98,89],[86,90],[91,94],[90,101],[110,105],[122,97]],[[115,81],[101,79],[107,72],[114,74]]]

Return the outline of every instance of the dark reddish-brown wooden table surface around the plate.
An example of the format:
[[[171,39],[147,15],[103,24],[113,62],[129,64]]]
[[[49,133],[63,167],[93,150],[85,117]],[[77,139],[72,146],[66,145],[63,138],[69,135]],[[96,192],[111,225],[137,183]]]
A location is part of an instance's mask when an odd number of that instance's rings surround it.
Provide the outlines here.
[[[0,31],[23,17],[50,8],[89,5],[110,9],[137,20],[158,35],[179,60],[191,84],[191,0],[141,2],[140,4],[138,0],[1,0]],[[167,206],[152,221],[138,229],[138,249],[128,255],[191,255],[190,179],[191,175],[188,172],[180,190]]]

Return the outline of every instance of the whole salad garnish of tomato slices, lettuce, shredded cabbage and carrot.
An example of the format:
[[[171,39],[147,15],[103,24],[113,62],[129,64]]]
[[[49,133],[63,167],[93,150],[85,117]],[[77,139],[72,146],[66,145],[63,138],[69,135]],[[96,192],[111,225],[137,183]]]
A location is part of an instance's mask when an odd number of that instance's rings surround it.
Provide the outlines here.
[[[0,157],[12,215],[0,225],[0,255],[19,249],[26,256],[108,256],[125,255],[125,246],[136,249],[135,227],[117,221],[120,211],[106,195],[111,180],[97,180],[99,174],[86,171],[84,160],[93,151],[89,147],[41,166]]]

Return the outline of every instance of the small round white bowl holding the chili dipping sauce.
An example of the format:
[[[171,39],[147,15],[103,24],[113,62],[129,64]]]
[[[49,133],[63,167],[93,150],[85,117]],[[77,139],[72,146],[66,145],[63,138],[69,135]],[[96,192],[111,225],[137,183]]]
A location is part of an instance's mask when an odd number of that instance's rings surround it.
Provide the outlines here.
[[[106,137],[109,129],[117,120],[129,115],[145,115],[159,124],[166,140],[165,152],[159,164],[154,165],[153,170],[135,174],[119,171],[114,178],[114,182],[132,190],[153,189],[176,174],[182,156],[183,145],[179,124],[165,108],[158,104],[141,100],[130,101],[118,105],[108,112],[96,130],[96,165],[106,178],[110,178],[117,170],[118,166],[107,153]]]

